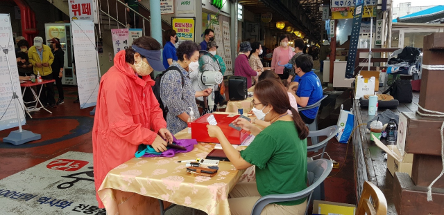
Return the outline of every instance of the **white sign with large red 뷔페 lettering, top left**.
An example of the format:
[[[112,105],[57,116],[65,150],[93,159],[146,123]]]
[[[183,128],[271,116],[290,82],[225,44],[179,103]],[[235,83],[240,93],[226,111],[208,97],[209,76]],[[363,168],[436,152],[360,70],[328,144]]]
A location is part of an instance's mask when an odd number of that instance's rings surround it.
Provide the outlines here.
[[[69,18],[91,20],[97,24],[96,1],[94,0],[68,0]]]

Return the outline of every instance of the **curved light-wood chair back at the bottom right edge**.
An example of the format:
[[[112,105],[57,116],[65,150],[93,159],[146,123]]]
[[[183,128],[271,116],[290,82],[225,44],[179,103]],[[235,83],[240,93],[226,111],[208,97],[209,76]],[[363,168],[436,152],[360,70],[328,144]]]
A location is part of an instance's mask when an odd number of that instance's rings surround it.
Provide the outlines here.
[[[370,200],[370,197],[372,200]],[[373,203],[372,203],[373,202]],[[387,200],[382,191],[368,181],[364,181],[361,199],[357,208],[357,215],[386,215]]]

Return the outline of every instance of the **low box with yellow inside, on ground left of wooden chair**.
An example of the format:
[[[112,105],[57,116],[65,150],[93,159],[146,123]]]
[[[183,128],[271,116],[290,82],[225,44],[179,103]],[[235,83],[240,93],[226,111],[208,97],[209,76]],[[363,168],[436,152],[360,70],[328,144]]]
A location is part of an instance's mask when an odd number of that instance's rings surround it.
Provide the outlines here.
[[[356,205],[332,203],[325,200],[313,201],[313,214],[355,215]]]

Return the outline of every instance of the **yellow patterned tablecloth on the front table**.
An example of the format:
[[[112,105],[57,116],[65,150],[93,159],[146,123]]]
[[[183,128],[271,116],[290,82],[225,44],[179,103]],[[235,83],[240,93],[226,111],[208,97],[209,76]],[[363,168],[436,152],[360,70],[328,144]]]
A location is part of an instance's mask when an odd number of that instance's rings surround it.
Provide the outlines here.
[[[178,139],[191,138],[186,130]],[[99,196],[108,214],[159,214],[161,199],[177,205],[200,209],[207,214],[230,214],[228,193],[244,171],[231,162],[220,162],[216,176],[191,176],[178,160],[205,158],[214,144],[199,143],[193,151],[173,158],[133,158],[112,169]]]

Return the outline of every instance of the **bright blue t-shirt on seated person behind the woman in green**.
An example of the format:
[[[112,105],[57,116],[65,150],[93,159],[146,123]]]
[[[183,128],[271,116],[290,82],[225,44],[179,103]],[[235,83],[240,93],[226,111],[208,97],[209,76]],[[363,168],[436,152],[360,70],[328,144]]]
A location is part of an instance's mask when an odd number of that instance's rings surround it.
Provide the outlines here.
[[[296,75],[298,77],[298,75]],[[296,79],[295,79],[296,81]],[[298,91],[296,91],[296,95],[299,97],[309,97],[307,106],[314,104],[322,99],[322,85],[321,80],[319,80],[318,75],[314,72],[310,71],[302,75],[302,77],[298,80],[299,86]],[[300,111],[307,118],[314,119],[316,118],[316,113],[318,112],[319,107],[315,109],[309,109],[305,111]]]

